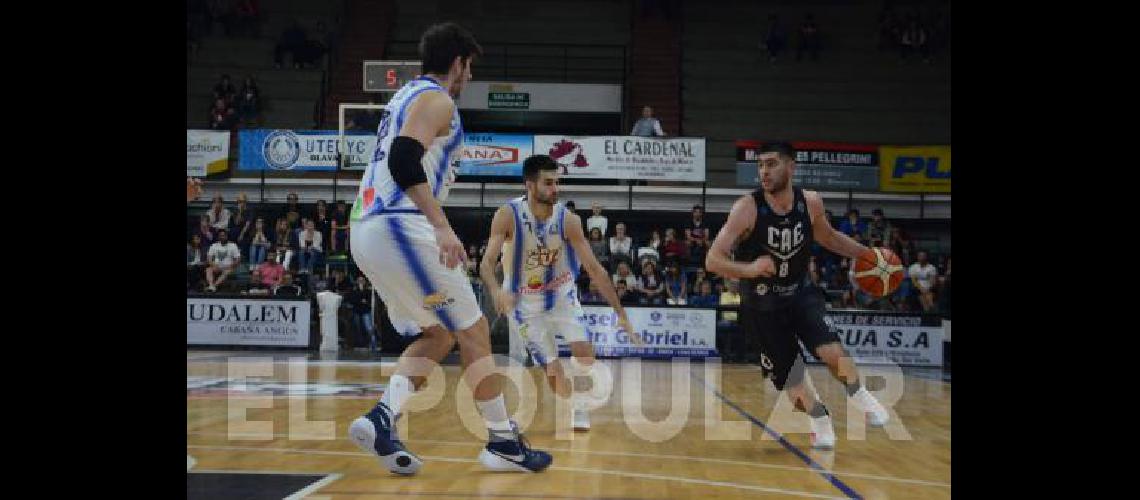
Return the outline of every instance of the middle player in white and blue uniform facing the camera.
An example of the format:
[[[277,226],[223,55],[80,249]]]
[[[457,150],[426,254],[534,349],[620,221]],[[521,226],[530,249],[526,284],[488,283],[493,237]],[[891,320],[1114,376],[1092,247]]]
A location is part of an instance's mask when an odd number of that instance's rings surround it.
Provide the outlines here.
[[[586,397],[583,393],[573,393],[573,379],[567,378],[557,362],[554,341],[559,335],[569,342],[571,372],[591,379],[594,397],[608,396],[613,380],[605,367],[594,363],[594,344],[586,335],[585,313],[578,301],[575,281],[579,263],[613,308],[618,325],[635,343],[641,341],[629,325],[610,274],[589,248],[581,218],[557,203],[557,163],[549,156],[534,155],[523,162],[522,177],[527,195],[495,212],[479,274],[487,289],[494,290],[495,309],[507,315],[511,335],[520,338],[535,361],[546,369],[551,388],[559,397],[573,396],[571,425],[575,431],[588,431]],[[500,251],[502,285],[495,277]]]

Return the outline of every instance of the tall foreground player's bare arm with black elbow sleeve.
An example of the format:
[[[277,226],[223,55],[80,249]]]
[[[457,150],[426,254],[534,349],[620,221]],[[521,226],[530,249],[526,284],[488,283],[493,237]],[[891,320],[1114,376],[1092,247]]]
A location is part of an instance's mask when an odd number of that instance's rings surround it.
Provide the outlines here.
[[[440,263],[448,268],[458,265],[466,260],[467,254],[443,215],[443,208],[432,196],[421,161],[425,148],[431,146],[435,137],[447,133],[454,107],[451,99],[441,92],[420,95],[408,108],[408,118],[392,141],[388,159],[392,178],[434,228]]]

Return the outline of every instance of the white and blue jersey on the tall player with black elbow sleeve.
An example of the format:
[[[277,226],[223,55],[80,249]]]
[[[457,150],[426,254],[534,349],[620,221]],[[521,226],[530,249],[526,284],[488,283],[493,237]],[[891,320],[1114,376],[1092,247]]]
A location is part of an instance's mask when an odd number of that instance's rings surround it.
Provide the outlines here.
[[[372,153],[372,161],[360,179],[360,189],[357,192],[356,203],[352,205],[350,220],[359,221],[370,215],[385,212],[415,213],[415,203],[408,198],[404,190],[392,179],[392,173],[388,169],[389,153],[392,148],[392,140],[400,133],[405,121],[408,118],[408,108],[413,100],[423,92],[442,92],[447,89],[427,76],[420,76],[406,83],[388,101],[388,107],[381,113],[380,125],[376,129],[376,148]],[[454,103],[454,101],[453,101]],[[458,173],[459,147],[463,146],[463,124],[459,122],[459,107],[455,106],[451,115],[447,136],[437,137],[427,145],[421,163],[424,174],[427,177],[427,186],[432,195],[439,203],[447,199],[451,183]]]

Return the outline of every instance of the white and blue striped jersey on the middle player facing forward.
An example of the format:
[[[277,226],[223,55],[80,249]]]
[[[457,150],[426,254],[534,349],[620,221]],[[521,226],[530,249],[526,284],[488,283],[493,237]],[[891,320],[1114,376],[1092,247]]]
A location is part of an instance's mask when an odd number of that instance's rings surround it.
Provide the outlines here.
[[[564,204],[556,203],[551,218],[539,221],[527,197],[507,202],[514,218],[514,235],[503,241],[503,288],[518,294],[523,312],[549,311],[555,302],[577,300],[579,260],[565,237]]]

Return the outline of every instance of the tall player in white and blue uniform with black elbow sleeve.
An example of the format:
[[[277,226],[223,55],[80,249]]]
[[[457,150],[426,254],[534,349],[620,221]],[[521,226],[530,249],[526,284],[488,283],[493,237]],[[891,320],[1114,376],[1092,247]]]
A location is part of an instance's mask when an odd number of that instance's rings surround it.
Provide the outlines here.
[[[480,54],[474,36],[454,23],[424,32],[424,74],[388,103],[349,218],[352,257],[388,306],[392,325],[414,323],[422,330],[400,355],[380,402],[349,427],[352,442],[397,474],[415,474],[423,461],[397,437],[396,419],[430,367],[456,342],[489,429],[480,462],[496,470],[540,472],[552,461],[549,453],[529,449],[506,412],[490,361],[487,320],[458,265],[464,247],[440,207],[455,181],[463,144],[455,100],[471,80],[471,59]]]

